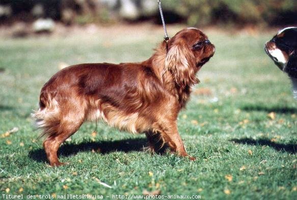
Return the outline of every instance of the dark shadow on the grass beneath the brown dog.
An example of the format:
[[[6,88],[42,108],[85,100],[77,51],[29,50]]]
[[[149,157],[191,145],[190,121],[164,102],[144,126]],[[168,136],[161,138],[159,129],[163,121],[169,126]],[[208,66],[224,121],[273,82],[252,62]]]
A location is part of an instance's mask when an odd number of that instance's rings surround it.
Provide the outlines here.
[[[97,153],[110,153],[115,151],[130,152],[143,151],[146,146],[146,138],[126,139],[117,141],[100,141],[100,142],[83,142],[80,144],[64,144],[60,147],[58,156],[75,155],[83,151],[95,151]],[[46,154],[44,149],[32,150],[29,152],[29,157],[33,160],[44,162],[46,161]]]

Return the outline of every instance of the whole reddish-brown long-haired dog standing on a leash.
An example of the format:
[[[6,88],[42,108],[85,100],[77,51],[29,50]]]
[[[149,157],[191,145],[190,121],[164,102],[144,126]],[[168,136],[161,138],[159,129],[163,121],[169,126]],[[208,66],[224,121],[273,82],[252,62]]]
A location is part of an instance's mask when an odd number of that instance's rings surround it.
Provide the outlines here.
[[[188,156],[177,130],[177,115],[188,101],[196,73],[214,54],[202,31],[186,28],[140,63],[69,66],[43,86],[36,125],[51,166],[59,166],[60,145],[87,120],[103,119],[121,130],[144,132],[150,149],[166,144]],[[156,142],[159,145],[156,145]],[[194,158],[192,158],[194,159]]]

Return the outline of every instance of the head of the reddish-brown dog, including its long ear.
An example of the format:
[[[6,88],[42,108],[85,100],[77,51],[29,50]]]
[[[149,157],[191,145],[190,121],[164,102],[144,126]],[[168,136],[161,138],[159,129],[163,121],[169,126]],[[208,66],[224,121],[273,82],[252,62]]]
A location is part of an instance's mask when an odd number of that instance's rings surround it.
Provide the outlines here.
[[[197,28],[185,28],[168,41],[165,68],[180,86],[198,83],[196,73],[214,54],[214,45]]]

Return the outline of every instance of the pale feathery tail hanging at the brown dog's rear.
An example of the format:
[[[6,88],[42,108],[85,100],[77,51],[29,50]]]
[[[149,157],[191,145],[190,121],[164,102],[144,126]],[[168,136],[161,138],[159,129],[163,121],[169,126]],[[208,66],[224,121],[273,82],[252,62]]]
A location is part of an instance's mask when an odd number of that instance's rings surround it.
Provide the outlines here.
[[[60,126],[59,104],[51,95],[41,92],[39,109],[34,111],[31,116],[35,119],[36,129],[41,129],[42,133],[39,139],[44,136],[58,134]]]

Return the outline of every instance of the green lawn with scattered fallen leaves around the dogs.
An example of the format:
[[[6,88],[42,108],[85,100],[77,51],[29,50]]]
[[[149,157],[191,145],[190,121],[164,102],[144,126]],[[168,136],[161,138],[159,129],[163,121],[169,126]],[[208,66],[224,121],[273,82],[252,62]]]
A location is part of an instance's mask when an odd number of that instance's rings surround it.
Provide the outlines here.
[[[250,36],[206,31],[216,53],[198,73],[201,83],[178,118],[186,150],[196,161],[169,153],[151,155],[141,150],[144,135],[102,123],[92,136],[96,124],[85,123],[61,147],[60,160],[70,164],[48,166],[30,117],[42,85],[59,70],[60,62],[148,58],[162,29],[134,29],[96,36],[0,39],[0,68],[5,69],[0,73],[0,134],[19,128],[0,138],[0,198],[102,194],[112,199],[112,194],[158,189],[162,195],[196,194],[205,199],[296,196],[297,102],[287,76],[263,50],[274,32]],[[170,27],[171,35],[178,29]],[[201,88],[208,94],[198,94]],[[267,117],[271,112],[274,119]]]

